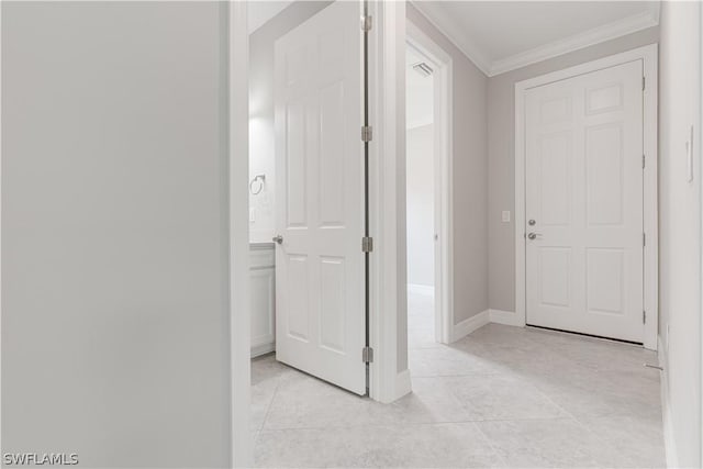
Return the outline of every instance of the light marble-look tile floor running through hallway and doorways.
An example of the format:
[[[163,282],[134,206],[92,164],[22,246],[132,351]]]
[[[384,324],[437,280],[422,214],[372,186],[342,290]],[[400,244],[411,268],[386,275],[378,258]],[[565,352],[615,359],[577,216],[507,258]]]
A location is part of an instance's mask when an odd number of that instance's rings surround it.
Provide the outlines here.
[[[440,345],[432,298],[409,303],[413,392],[393,404],[253,361],[256,466],[665,467],[654,353],[496,324]]]

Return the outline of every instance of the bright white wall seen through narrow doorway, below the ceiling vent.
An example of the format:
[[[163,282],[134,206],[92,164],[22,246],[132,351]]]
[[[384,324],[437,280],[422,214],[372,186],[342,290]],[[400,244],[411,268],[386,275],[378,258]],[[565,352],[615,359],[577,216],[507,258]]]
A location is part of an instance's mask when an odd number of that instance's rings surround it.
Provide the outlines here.
[[[432,94],[432,88],[428,91]],[[426,287],[435,284],[433,127],[409,129],[405,154],[408,283]]]

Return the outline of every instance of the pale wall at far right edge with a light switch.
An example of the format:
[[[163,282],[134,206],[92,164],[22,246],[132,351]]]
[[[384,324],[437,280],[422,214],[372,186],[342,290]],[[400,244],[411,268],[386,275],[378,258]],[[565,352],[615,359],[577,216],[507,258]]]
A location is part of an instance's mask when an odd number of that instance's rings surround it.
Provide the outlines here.
[[[662,2],[659,51],[659,324],[665,418],[678,467],[701,467],[700,3]],[[695,129],[693,182],[685,143]],[[669,334],[667,334],[669,330]],[[669,447],[669,450],[674,448]]]

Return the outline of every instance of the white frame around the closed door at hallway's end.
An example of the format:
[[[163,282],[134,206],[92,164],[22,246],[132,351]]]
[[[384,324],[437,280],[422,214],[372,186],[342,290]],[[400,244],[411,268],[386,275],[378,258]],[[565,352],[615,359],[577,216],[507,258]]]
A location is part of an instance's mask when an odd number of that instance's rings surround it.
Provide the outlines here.
[[[515,313],[520,325],[525,325],[526,263],[525,263],[525,93],[528,89],[576,77],[633,60],[643,60],[644,91],[644,230],[647,243],[644,249],[644,305],[647,312],[644,346],[657,349],[659,322],[658,275],[658,200],[657,200],[657,58],[658,45],[650,44],[598,60],[577,65],[551,74],[515,83]]]

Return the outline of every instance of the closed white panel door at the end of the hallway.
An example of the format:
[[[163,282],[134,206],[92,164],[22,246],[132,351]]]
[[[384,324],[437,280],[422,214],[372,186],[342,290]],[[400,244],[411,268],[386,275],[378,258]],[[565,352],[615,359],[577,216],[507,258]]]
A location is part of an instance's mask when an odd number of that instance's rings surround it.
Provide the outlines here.
[[[643,63],[526,92],[527,324],[641,343]]]

